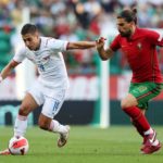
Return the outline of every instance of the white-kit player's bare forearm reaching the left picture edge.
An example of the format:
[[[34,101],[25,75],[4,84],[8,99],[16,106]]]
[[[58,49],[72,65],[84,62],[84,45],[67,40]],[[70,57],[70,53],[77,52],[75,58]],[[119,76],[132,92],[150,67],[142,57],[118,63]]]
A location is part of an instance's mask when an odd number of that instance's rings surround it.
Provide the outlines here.
[[[14,60],[10,61],[9,64],[2,70],[0,74],[0,80],[7,78],[14,67],[16,67],[20,63],[15,62]]]

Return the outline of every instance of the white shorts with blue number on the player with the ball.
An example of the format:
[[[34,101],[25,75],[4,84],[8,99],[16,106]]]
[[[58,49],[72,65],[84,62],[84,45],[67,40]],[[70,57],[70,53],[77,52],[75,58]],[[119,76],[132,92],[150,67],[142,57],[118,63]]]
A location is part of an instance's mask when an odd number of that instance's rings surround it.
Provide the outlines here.
[[[41,113],[51,118],[59,113],[66,96],[66,89],[47,87],[38,80],[27,92],[33,96],[38,105],[42,104]]]

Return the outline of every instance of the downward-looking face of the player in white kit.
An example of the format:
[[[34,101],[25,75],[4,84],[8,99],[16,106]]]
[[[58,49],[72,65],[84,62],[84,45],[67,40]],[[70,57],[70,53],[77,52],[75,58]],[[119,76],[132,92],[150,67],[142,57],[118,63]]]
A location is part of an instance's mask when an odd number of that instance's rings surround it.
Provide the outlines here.
[[[39,48],[40,39],[38,33],[23,35],[22,38],[28,49],[37,50]]]

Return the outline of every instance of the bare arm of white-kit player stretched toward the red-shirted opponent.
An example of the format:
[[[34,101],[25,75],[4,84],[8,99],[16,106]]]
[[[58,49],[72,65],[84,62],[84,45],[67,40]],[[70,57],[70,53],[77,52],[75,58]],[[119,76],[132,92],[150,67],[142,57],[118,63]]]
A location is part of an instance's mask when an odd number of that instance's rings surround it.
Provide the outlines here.
[[[67,50],[72,49],[89,49],[96,47],[95,41],[76,41],[76,42],[68,42]]]

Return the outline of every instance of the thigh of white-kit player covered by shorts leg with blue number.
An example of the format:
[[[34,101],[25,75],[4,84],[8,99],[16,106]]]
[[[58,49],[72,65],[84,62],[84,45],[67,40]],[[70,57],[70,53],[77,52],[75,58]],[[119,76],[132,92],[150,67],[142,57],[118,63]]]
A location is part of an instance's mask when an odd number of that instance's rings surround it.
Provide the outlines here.
[[[54,89],[51,91],[53,91],[52,93],[49,92],[49,95],[52,95],[51,97],[45,97],[46,100],[41,113],[47,117],[53,118],[61,110],[61,106],[65,100],[66,90]]]

